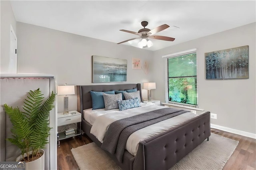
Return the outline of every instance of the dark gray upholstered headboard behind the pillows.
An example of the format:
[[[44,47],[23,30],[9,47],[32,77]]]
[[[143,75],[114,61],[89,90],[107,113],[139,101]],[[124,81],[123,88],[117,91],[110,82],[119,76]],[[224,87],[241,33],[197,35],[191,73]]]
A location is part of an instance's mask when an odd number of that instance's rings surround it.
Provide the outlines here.
[[[138,89],[142,101],[141,85],[138,84],[118,84],[118,85],[77,85],[77,111],[82,113],[84,109],[92,108],[92,98],[90,91],[111,91]],[[83,114],[82,114],[83,115]]]

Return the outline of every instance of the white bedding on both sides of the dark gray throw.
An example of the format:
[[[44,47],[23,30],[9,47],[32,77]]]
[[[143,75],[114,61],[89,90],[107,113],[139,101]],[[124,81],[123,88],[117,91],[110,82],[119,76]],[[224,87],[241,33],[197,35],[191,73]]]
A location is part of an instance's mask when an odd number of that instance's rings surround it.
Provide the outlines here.
[[[149,111],[162,109],[162,108],[164,107],[154,105],[152,103],[151,104],[141,103],[141,107],[127,109],[124,111],[119,111],[118,109],[113,109],[109,111],[105,111],[104,109],[96,109],[96,110],[86,109],[83,111],[83,113],[86,121],[88,121],[92,125],[91,131],[90,131],[91,134],[96,136],[96,138],[100,142],[103,142],[104,136],[106,134],[106,130],[108,129],[108,126],[112,122],[117,121],[119,119],[132,117],[134,115],[139,115],[141,113],[146,113]],[[132,133],[129,136],[126,143],[126,150],[128,150],[130,154],[135,156],[138,149],[138,143],[141,140],[145,140],[156,134],[164,132],[196,116],[197,115],[188,112],[188,113],[178,115],[176,117],[172,117],[165,121],[158,122],[156,124],[150,125],[140,130],[137,130],[136,132]]]

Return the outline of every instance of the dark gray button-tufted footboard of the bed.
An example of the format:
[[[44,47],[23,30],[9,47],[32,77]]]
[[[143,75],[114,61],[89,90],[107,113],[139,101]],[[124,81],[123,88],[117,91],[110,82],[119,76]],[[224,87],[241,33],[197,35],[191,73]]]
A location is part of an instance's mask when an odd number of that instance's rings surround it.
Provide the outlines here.
[[[166,132],[143,140],[133,162],[134,170],[168,170],[210,136],[210,112]]]

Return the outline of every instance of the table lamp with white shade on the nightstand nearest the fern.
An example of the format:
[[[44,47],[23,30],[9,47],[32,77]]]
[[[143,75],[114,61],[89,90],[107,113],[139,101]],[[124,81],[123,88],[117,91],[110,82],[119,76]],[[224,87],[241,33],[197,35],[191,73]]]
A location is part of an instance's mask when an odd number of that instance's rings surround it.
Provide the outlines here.
[[[67,95],[74,95],[75,94],[75,86],[74,85],[59,85],[58,86],[58,95],[65,95],[64,96],[64,111],[63,114],[68,114],[68,96]]]

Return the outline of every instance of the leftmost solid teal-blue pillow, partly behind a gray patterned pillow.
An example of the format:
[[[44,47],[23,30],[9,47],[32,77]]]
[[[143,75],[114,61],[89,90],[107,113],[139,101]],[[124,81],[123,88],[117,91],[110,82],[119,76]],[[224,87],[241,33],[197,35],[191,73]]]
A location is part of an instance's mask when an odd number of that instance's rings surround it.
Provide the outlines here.
[[[113,94],[113,95],[115,94],[114,91],[104,91],[104,92],[90,91],[90,93],[92,97],[92,110],[105,108],[103,93]]]

